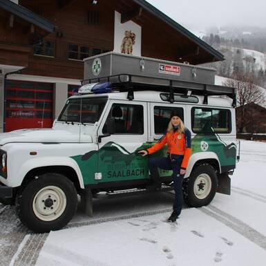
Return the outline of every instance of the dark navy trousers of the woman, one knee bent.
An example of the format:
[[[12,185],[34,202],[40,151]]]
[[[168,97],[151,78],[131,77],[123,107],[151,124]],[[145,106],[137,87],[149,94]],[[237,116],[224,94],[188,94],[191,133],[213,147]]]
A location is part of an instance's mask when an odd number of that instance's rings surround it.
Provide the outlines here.
[[[171,154],[167,158],[151,158],[149,159],[149,170],[151,173],[151,179],[154,182],[160,182],[160,176],[158,173],[158,168],[164,170],[173,170],[173,189],[175,190],[175,200],[173,202],[173,211],[178,213],[178,216],[181,213],[183,205],[183,192],[182,192],[182,183],[184,175],[180,175],[180,167],[182,164],[184,156]]]

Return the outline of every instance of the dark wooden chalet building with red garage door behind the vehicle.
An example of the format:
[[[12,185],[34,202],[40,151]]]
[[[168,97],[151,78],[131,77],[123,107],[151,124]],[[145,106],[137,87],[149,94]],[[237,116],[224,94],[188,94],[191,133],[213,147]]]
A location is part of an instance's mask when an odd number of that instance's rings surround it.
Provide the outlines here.
[[[144,0],[0,0],[0,131],[52,126],[80,84],[82,59],[113,50],[187,64],[223,59]]]

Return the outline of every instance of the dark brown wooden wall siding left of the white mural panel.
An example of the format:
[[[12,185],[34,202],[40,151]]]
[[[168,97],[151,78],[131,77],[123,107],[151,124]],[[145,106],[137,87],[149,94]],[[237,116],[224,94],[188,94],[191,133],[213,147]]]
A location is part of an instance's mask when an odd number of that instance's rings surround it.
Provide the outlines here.
[[[30,10],[39,10],[42,17],[49,19],[61,32],[48,35],[46,39],[56,41],[55,58],[30,55],[29,66],[23,73],[28,75],[47,75],[53,77],[83,78],[83,61],[68,59],[68,44],[78,44],[89,48],[113,50],[114,8],[106,8],[106,1],[96,6],[91,1],[76,0],[59,8],[58,1],[23,1],[20,3]],[[41,8],[37,6],[41,5]],[[88,25],[88,10],[99,10],[100,26]]]

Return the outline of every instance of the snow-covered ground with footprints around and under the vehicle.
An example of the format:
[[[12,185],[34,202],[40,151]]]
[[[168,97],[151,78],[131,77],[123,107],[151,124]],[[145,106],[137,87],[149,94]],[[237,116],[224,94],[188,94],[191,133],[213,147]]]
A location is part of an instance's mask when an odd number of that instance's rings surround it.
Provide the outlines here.
[[[216,194],[207,207],[184,207],[177,223],[166,222],[171,200],[162,193],[149,199],[156,202],[151,205],[155,214],[149,216],[141,214],[148,198],[118,198],[105,207],[105,216],[111,213],[116,219],[46,235],[36,265],[265,266],[265,173],[266,143],[242,141],[231,196]],[[140,215],[126,218],[129,213]],[[77,215],[72,222],[81,220]]]

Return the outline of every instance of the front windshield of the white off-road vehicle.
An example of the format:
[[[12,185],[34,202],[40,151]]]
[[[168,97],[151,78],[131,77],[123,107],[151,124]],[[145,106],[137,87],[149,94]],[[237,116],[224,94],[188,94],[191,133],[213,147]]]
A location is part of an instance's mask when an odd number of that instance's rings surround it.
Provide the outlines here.
[[[107,98],[68,99],[57,121],[94,124],[102,115]]]

